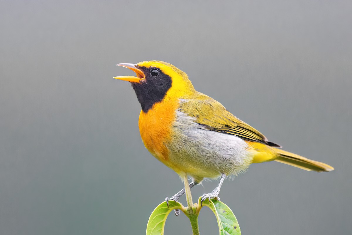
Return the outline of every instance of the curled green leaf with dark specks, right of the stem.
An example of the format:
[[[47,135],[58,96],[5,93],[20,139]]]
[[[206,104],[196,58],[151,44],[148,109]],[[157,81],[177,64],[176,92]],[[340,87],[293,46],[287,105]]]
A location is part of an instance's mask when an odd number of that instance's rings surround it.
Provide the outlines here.
[[[198,204],[200,204],[199,198]],[[203,206],[208,206],[212,210],[218,220],[220,235],[241,235],[241,229],[232,210],[220,201],[211,199],[205,200]]]

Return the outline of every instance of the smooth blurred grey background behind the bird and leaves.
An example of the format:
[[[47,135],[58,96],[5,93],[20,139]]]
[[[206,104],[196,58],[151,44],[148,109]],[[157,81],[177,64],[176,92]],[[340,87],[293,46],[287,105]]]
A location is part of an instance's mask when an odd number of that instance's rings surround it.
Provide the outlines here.
[[[117,63],[162,60],[285,150],[225,181],[245,234],[351,234],[351,1],[1,1],[0,234],[145,234],[183,187]],[[193,190],[196,200],[217,182]],[[181,202],[186,204],[184,197]],[[201,234],[218,234],[209,209]],[[191,234],[186,216],[165,234]]]

